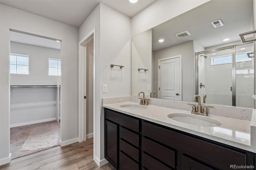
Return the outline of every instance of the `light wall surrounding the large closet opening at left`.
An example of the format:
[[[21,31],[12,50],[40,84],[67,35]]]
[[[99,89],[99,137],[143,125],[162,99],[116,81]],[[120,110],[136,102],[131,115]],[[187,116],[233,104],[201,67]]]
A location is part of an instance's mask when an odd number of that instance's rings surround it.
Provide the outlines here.
[[[10,29],[62,40],[61,140],[77,138],[78,28],[3,4],[0,16],[0,160],[10,152]]]

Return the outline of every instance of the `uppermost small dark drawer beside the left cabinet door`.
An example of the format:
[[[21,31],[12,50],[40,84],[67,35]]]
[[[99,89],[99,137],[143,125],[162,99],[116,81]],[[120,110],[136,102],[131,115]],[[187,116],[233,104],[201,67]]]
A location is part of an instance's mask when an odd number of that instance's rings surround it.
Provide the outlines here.
[[[123,127],[120,127],[120,138],[134,144],[135,146],[139,147],[139,135],[127,130]]]

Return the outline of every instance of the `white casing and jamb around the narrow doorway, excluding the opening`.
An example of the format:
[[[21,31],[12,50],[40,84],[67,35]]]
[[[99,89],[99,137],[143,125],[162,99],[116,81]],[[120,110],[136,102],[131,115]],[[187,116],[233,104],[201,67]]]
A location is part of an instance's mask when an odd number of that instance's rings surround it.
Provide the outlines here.
[[[86,105],[84,96],[86,96],[86,45],[93,41],[93,96],[95,96],[95,44],[96,28],[92,29],[78,43],[78,142],[86,140]],[[93,98],[93,137],[95,135],[95,97]],[[95,140],[95,138],[93,138]]]

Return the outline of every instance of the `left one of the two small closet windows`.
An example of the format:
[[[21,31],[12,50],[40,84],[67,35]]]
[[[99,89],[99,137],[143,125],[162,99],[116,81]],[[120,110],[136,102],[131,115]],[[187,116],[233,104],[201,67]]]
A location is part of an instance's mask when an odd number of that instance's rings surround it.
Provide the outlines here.
[[[28,74],[28,55],[10,54],[10,73]]]

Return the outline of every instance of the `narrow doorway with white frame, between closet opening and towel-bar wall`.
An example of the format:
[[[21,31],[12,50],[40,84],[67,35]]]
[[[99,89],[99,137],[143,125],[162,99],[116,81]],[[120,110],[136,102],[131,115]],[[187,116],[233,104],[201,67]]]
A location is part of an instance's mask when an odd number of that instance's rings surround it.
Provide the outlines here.
[[[78,45],[78,142],[83,142],[95,140],[95,28]]]

